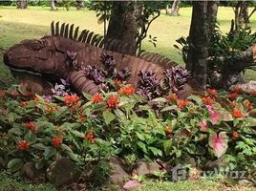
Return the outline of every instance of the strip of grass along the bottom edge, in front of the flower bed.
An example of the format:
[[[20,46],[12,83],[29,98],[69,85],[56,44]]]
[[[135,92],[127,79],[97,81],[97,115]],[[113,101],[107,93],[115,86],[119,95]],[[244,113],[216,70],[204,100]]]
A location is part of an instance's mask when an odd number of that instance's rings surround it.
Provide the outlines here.
[[[10,176],[0,173],[0,191],[56,191],[57,189],[50,183],[48,184],[33,184],[20,180],[14,179]],[[98,191],[99,188],[93,189],[92,191]],[[116,186],[114,187],[103,187],[100,190],[104,191],[117,191]],[[144,181],[138,189],[135,191],[255,191],[256,188],[245,187],[245,186],[232,186],[226,187],[223,183],[213,180],[183,180],[178,182],[171,181]]]

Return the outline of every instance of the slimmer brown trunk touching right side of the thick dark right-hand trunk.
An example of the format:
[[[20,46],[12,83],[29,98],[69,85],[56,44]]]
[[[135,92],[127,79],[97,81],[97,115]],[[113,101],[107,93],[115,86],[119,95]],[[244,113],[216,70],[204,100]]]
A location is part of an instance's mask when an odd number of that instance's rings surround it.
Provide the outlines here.
[[[215,31],[219,1],[213,0],[207,2],[207,33],[210,39]]]

